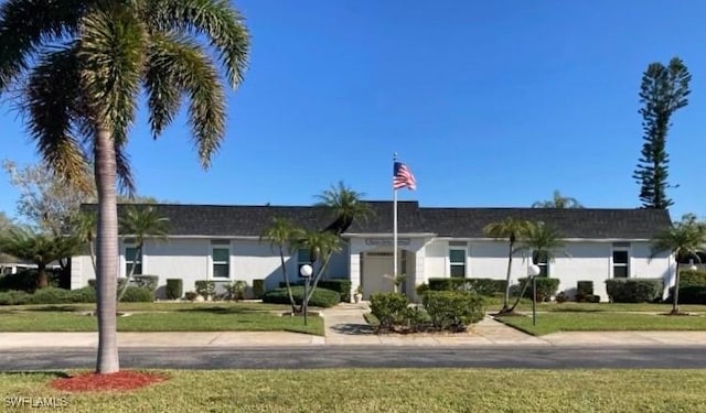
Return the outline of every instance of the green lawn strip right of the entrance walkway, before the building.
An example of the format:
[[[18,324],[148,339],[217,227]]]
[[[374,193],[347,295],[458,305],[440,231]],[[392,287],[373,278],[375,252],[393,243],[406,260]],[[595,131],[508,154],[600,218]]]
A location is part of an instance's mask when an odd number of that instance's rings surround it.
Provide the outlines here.
[[[706,330],[706,315],[666,316],[660,314],[609,312],[549,312],[532,316],[499,317],[505,324],[536,336],[557,332]]]

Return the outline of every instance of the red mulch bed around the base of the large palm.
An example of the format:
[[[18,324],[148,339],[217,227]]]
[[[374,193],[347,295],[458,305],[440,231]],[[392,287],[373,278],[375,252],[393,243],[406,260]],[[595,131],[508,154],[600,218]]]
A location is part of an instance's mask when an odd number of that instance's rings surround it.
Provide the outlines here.
[[[56,379],[51,387],[64,391],[127,391],[141,389],[167,380],[162,374],[139,371],[118,371],[110,374],[88,372],[68,378]]]

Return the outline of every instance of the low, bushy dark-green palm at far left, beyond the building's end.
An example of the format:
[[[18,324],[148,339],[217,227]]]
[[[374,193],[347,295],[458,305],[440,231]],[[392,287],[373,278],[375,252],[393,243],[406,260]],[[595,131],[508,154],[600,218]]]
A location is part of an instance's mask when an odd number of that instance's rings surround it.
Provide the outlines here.
[[[36,286],[49,285],[46,265],[52,261],[75,256],[81,250],[81,241],[74,237],[56,237],[29,229],[10,228],[0,237],[0,250],[36,265]]]

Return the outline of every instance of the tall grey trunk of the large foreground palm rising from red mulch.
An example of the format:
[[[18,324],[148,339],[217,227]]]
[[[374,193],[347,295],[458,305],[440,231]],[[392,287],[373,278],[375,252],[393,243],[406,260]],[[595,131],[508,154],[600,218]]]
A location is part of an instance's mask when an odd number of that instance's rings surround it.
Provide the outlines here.
[[[116,333],[118,284],[117,172],[115,142],[104,124],[96,127],[94,163],[98,192],[98,233],[96,237],[98,356],[96,372],[114,373],[120,370]]]

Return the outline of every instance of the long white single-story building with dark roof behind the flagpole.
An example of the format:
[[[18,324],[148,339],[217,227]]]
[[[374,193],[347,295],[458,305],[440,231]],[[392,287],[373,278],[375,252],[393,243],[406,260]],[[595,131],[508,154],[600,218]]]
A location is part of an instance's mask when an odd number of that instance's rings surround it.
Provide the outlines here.
[[[364,297],[392,291],[393,203],[367,202],[374,215],[354,221],[343,233],[343,249],[336,253],[325,278],[343,278],[352,290],[362,285]],[[90,209],[92,206],[85,206]],[[282,281],[277,249],[261,233],[275,217],[292,224],[322,229],[332,221],[320,207],[308,206],[216,206],[153,205],[170,222],[168,240],[148,240],[141,257],[136,257],[129,236],[120,239],[118,276],[126,276],[135,260],[136,273],[182,279],[184,292],[194,290],[197,280],[265,280],[266,289]],[[125,206],[120,205],[118,214]],[[543,274],[560,280],[559,291],[569,294],[577,281],[593,281],[602,301],[607,279],[660,278],[671,283],[676,264],[670,253],[650,259],[650,239],[671,226],[670,215],[656,209],[554,209],[554,208],[439,208],[420,207],[417,202],[398,203],[398,271],[406,274],[403,291],[415,295],[415,286],[430,278],[505,279],[507,241],[483,233],[483,227],[506,217],[542,221],[565,237],[567,256],[541,264]],[[307,251],[286,257],[290,278],[296,278]],[[512,282],[527,274],[528,260],[515,256]],[[71,285],[77,289],[94,279],[90,257],[74,257]],[[163,290],[163,289],[162,289]],[[159,293],[159,291],[158,291]]]

